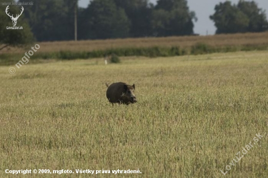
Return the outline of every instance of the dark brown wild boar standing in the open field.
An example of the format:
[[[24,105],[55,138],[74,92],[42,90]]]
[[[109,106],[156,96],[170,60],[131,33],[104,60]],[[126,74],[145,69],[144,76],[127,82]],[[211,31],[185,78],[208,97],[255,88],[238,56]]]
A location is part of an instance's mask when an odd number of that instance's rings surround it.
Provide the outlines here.
[[[119,103],[119,104],[130,104],[137,102],[136,97],[134,95],[135,84],[127,85],[123,82],[113,83],[108,87],[106,91],[106,97],[108,98],[110,103]]]

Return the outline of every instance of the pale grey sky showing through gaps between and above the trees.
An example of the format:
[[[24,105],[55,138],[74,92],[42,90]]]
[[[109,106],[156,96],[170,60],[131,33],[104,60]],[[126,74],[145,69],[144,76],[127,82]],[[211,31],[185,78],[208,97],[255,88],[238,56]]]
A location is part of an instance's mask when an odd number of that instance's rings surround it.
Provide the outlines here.
[[[157,0],[150,0],[156,3]],[[219,2],[225,0],[188,0],[188,5],[191,11],[196,13],[198,18],[197,22],[194,23],[194,33],[200,35],[206,35],[207,31],[209,35],[213,35],[216,31],[213,22],[210,20],[210,15],[214,14],[214,7]],[[237,3],[239,0],[230,0],[232,3]],[[265,9],[266,14],[268,12],[268,0],[255,0],[258,3],[258,7]],[[80,7],[87,7],[89,0],[79,0],[78,4]]]

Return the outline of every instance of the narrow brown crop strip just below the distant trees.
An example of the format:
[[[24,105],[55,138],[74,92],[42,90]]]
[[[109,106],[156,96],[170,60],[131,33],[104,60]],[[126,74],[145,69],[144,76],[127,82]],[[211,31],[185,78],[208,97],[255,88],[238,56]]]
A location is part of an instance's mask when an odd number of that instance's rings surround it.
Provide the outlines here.
[[[196,43],[206,43],[211,46],[240,46],[240,45],[268,45],[268,32],[246,33],[246,34],[226,34],[215,36],[172,36],[172,37],[148,37],[148,38],[127,38],[127,39],[107,39],[107,40],[80,40],[80,41],[54,41],[38,42],[41,48],[39,52],[59,52],[59,51],[94,51],[111,48],[135,48],[135,47],[170,47],[179,46],[190,48]],[[0,46],[1,47],[1,46]],[[26,47],[26,50],[29,47]],[[0,53],[25,53],[21,48],[5,48]]]

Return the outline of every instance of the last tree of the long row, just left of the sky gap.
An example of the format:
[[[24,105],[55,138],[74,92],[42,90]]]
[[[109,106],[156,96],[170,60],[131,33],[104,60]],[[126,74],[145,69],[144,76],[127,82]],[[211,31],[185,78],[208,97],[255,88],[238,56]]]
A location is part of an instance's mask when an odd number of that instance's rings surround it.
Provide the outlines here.
[[[193,34],[195,13],[187,0],[158,0],[153,11],[154,36],[184,36]]]

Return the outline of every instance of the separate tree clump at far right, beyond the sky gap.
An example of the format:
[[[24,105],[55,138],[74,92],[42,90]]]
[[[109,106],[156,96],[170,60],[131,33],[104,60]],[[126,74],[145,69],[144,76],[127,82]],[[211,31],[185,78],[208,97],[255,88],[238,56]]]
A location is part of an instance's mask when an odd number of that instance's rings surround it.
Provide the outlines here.
[[[262,32],[267,30],[265,12],[258,9],[254,1],[240,0],[238,5],[230,1],[220,2],[210,16],[217,28],[216,34]]]

